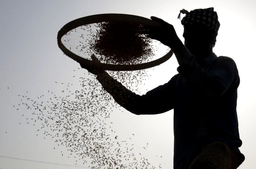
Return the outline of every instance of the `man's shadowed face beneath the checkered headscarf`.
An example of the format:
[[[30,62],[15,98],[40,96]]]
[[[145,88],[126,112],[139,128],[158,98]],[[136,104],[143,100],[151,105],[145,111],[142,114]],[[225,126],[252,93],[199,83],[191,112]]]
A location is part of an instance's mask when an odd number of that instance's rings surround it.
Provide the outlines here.
[[[209,50],[209,36],[204,27],[188,25],[184,27],[185,46],[193,55]]]

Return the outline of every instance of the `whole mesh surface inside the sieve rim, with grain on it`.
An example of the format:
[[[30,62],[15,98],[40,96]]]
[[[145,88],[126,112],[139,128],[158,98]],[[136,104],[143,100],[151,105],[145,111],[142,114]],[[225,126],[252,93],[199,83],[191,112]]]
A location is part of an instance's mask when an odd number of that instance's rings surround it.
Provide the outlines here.
[[[109,23],[101,22],[76,27],[62,36],[61,43],[69,51],[84,59],[91,60],[91,55],[94,54],[101,63],[107,64],[147,63],[161,58],[170,51],[170,48],[161,42],[142,34],[139,29],[142,28],[142,24],[112,22],[112,31],[105,30],[104,38],[101,36],[103,27],[105,25],[106,28]],[[142,43],[138,43],[138,40]]]

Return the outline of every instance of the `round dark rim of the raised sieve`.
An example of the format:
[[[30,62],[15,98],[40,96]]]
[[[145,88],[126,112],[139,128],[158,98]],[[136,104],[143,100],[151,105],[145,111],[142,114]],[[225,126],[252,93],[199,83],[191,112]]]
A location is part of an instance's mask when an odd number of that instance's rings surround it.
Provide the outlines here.
[[[132,23],[139,23],[144,25],[153,25],[153,26],[160,26],[159,23],[147,19],[145,17],[136,16],[136,15],[128,15],[128,14],[119,14],[119,13],[106,13],[106,14],[98,14],[98,15],[90,15],[86,17],[81,17],[78,19],[75,19],[73,21],[70,21],[69,23],[65,24],[57,35],[57,42],[58,46],[61,49],[61,51],[64,52],[65,55],[67,55],[69,58],[75,60],[78,63],[85,63],[90,64],[95,67],[101,67],[105,70],[110,71],[135,71],[135,70],[142,70],[147,69],[151,67],[158,66],[164,62],[166,62],[168,59],[170,59],[173,55],[173,50],[170,50],[167,52],[166,55],[162,56],[159,59],[153,60],[151,62],[147,63],[141,63],[141,64],[107,64],[107,63],[95,63],[92,60],[82,58],[73,52],[69,51],[64,44],[61,42],[61,38],[67,34],[69,31],[80,27],[82,25],[87,24],[93,24],[93,23],[101,23],[101,22],[114,22],[114,21],[123,21],[123,22],[132,22]]]

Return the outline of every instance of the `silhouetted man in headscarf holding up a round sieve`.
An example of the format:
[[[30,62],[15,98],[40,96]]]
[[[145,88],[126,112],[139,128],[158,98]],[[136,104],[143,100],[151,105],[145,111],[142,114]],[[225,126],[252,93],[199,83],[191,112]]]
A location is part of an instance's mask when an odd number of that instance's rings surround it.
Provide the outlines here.
[[[173,25],[157,17],[151,19],[161,28],[145,30],[150,38],[174,51],[178,74],[169,82],[141,96],[104,70],[81,67],[97,75],[114,100],[133,114],[160,114],[174,109],[174,169],[236,169],[245,160],[238,149],[242,141],[236,112],[240,84],[236,63],[212,52],[220,26],[214,8],[180,12],[186,14],[181,21],[185,45]]]

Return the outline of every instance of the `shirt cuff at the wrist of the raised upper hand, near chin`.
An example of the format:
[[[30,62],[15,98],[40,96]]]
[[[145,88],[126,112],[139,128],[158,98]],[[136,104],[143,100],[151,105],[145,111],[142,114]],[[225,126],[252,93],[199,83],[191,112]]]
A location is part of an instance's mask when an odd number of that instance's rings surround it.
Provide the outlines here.
[[[192,66],[193,60],[195,56],[191,54],[188,48],[184,45],[180,52],[174,53],[176,59],[178,60],[178,64],[190,64]]]

